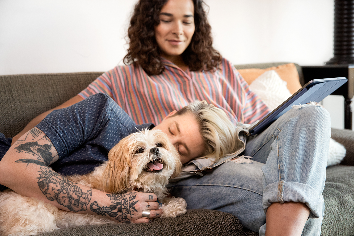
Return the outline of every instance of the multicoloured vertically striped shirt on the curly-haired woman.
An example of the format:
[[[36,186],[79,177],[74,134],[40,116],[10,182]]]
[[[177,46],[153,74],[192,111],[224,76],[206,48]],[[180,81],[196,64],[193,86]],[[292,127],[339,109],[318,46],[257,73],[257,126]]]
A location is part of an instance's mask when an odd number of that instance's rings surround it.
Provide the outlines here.
[[[253,93],[235,67],[222,59],[216,71],[183,71],[162,58],[165,70],[148,75],[137,63],[116,66],[79,93],[83,99],[99,92],[114,99],[137,123],[159,124],[173,110],[194,100],[223,109],[233,122],[253,123],[270,110]]]

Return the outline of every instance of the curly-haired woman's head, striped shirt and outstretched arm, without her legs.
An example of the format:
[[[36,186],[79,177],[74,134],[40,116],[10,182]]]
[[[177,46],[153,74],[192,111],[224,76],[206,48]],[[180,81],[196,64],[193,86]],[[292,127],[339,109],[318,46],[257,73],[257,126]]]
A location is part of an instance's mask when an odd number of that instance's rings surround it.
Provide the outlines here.
[[[171,111],[197,99],[223,109],[234,123],[253,123],[269,113],[232,63],[212,47],[204,2],[186,1],[191,9],[180,16],[164,8],[174,4],[172,8],[177,9],[182,2],[138,1],[128,29],[126,65],[102,74],[77,96],[54,109],[103,92],[140,124],[160,123]],[[35,117],[13,140],[52,110]]]

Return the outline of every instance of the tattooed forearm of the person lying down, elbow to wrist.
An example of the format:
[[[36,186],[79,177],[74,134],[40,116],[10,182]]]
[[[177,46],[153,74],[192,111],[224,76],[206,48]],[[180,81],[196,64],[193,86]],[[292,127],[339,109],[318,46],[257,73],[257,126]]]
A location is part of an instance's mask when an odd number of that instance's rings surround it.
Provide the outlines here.
[[[26,160],[26,159],[24,159]],[[87,186],[73,183],[50,167],[33,162],[16,162],[18,173],[30,174],[9,175],[18,181],[7,181],[11,189],[23,196],[35,197],[65,211],[100,214],[119,222],[132,221],[135,211],[135,200],[124,202],[123,198],[134,199],[135,192],[125,194],[108,194]],[[27,166],[28,164],[28,166]],[[27,170],[26,170],[27,169]]]

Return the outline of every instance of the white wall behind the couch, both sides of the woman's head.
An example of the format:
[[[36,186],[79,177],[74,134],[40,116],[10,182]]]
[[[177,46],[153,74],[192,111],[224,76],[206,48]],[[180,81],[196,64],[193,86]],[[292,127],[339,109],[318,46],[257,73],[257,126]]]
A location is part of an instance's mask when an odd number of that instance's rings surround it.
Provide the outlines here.
[[[333,56],[333,0],[205,1],[214,46],[234,64],[321,65]],[[135,2],[0,0],[0,75],[106,71],[122,64]],[[335,104],[328,105],[332,120],[342,120]]]

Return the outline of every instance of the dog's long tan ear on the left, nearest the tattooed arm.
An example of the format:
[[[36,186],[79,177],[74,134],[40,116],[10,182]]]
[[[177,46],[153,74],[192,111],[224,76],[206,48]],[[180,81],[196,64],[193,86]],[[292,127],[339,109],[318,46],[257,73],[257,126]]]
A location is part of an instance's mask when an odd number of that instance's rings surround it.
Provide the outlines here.
[[[126,138],[108,152],[108,163],[103,171],[101,186],[110,193],[124,192],[130,188],[131,150]]]

